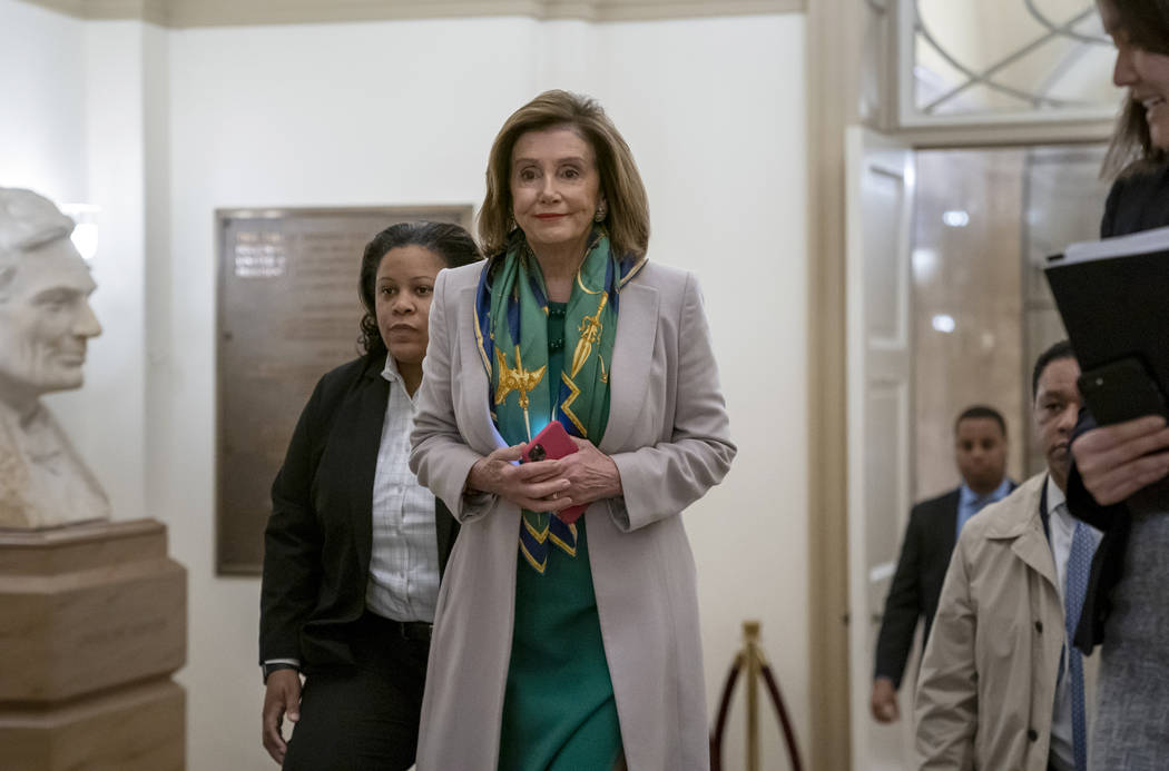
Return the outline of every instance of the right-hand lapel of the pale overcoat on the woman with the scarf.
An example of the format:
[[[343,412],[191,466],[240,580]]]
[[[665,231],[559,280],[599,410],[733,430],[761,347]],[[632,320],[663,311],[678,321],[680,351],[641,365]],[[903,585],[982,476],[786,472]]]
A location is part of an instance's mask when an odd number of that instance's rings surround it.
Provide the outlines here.
[[[613,454],[625,446],[637,415],[646,408],[653,340],[658,326],[658,291],[638,277],[621,290],[617,336],[609,367],[609,423],[600,450]],[[680,340],[679,345],[686,345]]]

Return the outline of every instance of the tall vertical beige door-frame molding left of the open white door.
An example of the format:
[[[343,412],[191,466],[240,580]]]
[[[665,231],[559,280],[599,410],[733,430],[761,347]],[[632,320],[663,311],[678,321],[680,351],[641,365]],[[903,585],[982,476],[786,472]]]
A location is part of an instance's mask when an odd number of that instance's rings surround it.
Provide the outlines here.
[[[816,0],[808,7],[808,635],[815,771],[852,767],[844,134],[860,123],[864,23],[864,5],[855,0]]]

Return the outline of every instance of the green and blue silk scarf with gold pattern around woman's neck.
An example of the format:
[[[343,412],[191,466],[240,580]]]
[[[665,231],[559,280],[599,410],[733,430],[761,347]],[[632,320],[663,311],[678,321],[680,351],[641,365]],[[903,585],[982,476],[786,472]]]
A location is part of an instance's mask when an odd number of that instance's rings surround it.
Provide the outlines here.
[[[509,444],[530,442],[551,421],[601,444],[609,416],[609,366],[617,333],[618,290],[644,259],[618,261],[595,227],[565,315],[565,366],[548,388],[548,299],[540,265],[517,231],[483,271],[476,298],[479,353],[491,378],[492,419]],[[624,270],[623,270],[624,268]],[[553,402],[553,394],[555,401]],[[576,526],[524,510],[519,548],[544,572],[549,542],[576,554]]]

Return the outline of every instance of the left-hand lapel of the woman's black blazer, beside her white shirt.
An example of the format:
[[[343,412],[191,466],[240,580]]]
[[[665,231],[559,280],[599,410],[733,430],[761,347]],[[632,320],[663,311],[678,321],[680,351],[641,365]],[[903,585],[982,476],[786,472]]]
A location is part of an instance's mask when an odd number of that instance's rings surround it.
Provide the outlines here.
[[[389,382],[371,366],[358,382],[357,398],[346,402],[334,425],[336,431],[341,431],[340,436],[351,437],[346,443],[353,453],[348,470],[352,474],[350,518],[362,575],[369,569],[369,551],[373,548],[373,482],[388,402]]]

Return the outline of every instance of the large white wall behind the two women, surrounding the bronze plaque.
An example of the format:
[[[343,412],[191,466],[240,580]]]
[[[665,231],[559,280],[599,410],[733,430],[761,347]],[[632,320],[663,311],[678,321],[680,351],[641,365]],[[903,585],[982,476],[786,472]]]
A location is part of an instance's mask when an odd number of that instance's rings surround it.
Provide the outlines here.
[[[29,13],[0,0],[0,63],[9,20]],[[271,767],[258,743],[258,581],[214,575],[214,210],[477,203],[496,131],[546,88],[584,91],[606,105],[649,188],[651,258],[694,270],[703,282],[740,447],[726,482],[686,514],[700,571],[708,697],[713,704],[741,620],[761,619],[807,751],[802,15],[178,32],[132,23],[127,35],[120,25],[130,22],[36,14],[51,26],[51,47],[88,40],[87,61],[101,74],[89,76],[88,98],[76,86],[63,106],[26,118],[29,125],[76,116],[108,137],[123,104],[137,124],[117,154],[130,164],[127,195],[138,196],[140,210],[118,213],[137,232],[125,244],[141,298],[117,317],[138,327],[125,332],[139,352],[126,383],[143,426],[131,444],[144,471],[131,473],[144,477],[144,512],[167,522],[172,553],[189,571],[191,646],[180,679],[193,771]],[[112,86],[131,60],[139,71],[125,79],[133,85],[115,88],[106,102],[94,83]],[[53,77],[71,83],[79,67]],[[0,69],[0,85],[6,77]],[[0,137],[22,136],[8,124],[0,117]],[[50,160],[53,150],[44,153]],[[63,167],[108,174],[102,169],[113,161],[105,152],[89,143]],[[0,145],[0,183],[7,183],[4,153]],[[49,161],[42,167],[29,172],[34,181],[40,174],[60,187],[51,178],[61,173]],[[111,322],[102,340],[112,336]],[[145,394],[137,390],[143,368]],[[728,734],[732,765],[742,757],[741,697]],[[779,746],[770,731],[766,767],[784,767]]]

